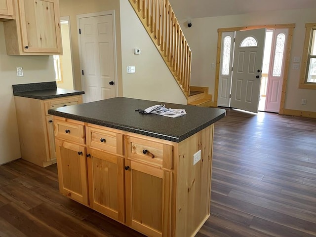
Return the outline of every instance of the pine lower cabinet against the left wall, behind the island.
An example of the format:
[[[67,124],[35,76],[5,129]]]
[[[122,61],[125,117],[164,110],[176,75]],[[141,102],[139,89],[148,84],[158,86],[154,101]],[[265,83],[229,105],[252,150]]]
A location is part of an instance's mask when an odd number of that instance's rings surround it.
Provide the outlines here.
[[[42,167],[56,163],[54,119],[47,110],[52,105],[81,104],[82,96],[48,100],[14,96],[14,100],[22,158]]]

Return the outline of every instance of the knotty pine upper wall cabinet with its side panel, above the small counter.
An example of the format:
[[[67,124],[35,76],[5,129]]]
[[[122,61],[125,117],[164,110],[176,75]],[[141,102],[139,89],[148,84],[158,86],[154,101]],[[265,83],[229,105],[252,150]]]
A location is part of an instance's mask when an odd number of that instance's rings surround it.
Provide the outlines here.
[[[3,23],[7,54],[62,53],[58,0],[17,0],[15,10],[16,20]]]

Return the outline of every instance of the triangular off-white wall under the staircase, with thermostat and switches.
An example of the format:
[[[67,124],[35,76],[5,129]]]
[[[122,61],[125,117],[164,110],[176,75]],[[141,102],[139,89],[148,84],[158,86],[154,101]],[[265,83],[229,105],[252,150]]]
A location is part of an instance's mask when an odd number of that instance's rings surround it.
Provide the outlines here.
[[[153,41],[127,0],[120,0],[123,96],[161,102],[187,104]],[[134,55],[134,48],[141,54]],[[127,74],[135,66],[135,74]],[[180,109],[180,108],[179,108]]]

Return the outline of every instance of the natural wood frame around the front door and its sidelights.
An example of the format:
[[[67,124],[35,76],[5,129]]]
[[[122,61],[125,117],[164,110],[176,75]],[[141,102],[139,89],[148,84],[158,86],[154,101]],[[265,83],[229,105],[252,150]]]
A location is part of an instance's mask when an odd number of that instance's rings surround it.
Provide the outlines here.
[[[217,37],[217,56],[216,56],[216,73],[215,73],[215,89],[214,89],[213,106],[217,107],[218,84],[219,84],[221,50],[222,50],[222,33],[223,32],[231,32],[231,31],[254,30],[254,29],[259,29],[259,28],[266,28],[267,30],[278,29],[278,28],[288,28],[288,39],[287,39],[288,41],[286,44],[284,77],[283,77],[283,83],[282,83],[281,103],[280,103],[280,109],[279,109],[279,114],[280,115],[284,114],[284,102],[285,102],[285,94],[286,94],[286,87],[287,87],[288,71],[289,71],[289,65],[290,65],[292,38],[293,38],[295,24],[243,26],[243,27],[231,27],[231,28],[219,28],[219,29],[217,29],[218,37]]]

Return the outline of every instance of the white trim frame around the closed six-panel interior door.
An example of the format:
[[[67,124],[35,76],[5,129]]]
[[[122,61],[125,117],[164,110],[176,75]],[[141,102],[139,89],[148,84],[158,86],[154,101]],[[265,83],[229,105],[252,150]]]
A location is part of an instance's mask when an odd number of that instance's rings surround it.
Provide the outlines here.
[[[115,96],[118,96],[118,60],[117,60],[117,35],[116,35],[116,27],[115,27],[115,10],[110,11],[99,11],[99,12],[92,12],[92,13],[85,13],[85,14],[78,14],[77,15],[77,27],[78,27],[78,47],[79,47],[79,63],[80,63],[80,81],[82,90],[84,90],[84,81],[82,78],[82,55],[81,55],[81,41],[80,41],[80,34],[79,34],[79,20],[80,18],[86,17],[95,17],[95,16],[105,16],[105,15],[112,15],[112,30],[113,30],[113,48],[114,48],[114,77],[115,77]]]

